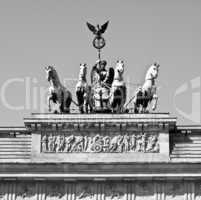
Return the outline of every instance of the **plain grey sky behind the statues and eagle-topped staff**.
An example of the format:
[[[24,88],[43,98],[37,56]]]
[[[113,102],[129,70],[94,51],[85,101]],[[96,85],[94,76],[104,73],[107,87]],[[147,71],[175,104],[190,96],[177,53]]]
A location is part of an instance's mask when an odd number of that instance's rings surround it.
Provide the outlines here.
[[[23,125],[24,116],[40,112],[39,90],[49,86],[47,65],[56,66],[61,80],[69,79],[74,94],[79,64],[86,62],[90,69],[97,60],[86,21],[106,20],[102,57],[108,66],[125,61],[128,96],[158,61],[157,111],[177,116],[179,124],[198,124],[200,10],[198,0],[0,0],[0,125]]]

